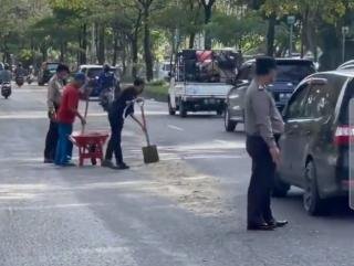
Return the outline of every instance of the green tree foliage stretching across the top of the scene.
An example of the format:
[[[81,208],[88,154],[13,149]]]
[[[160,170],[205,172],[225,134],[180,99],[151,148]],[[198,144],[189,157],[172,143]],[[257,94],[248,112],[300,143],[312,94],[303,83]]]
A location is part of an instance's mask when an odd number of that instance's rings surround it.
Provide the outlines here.
[[[218,46],[258,53],[266,46],[271,15],[277,17],[274,43],[280,51],[289,45],[285,19],[289,14],[298,20],[294,42],[298,47],[303,43],[305,51],[316,51],[319,46],[335,49],[341,26],[350,25],[352,33],[354,29],[354,0],[216,0],[209,2],[210,23],[206,23],[207,3],[204,0],[1,0],[0,53],[8,61],[11,54],[29,63],[39,55],[42,60],[63,56],[73,64],[84,54],[95,63],[98,43],[104,39],[106,61],[113,62],[115,56],[121,64],[132,67],[143,65],[147,46],[155,61],[163,61],[204,32]],[[150,44],[144,47],[146,25]],[[103,29],[101,36],[98,29]],[[336,36],[333,42],[326,42],[327,32]]]

